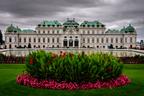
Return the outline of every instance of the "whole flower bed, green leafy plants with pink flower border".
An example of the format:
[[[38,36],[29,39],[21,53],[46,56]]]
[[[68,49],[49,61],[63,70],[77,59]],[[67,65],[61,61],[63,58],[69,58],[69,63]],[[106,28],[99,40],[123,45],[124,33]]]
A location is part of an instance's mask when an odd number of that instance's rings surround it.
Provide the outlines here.
[[[17,83],[50,89],[112,88],[130,83],[122,70],[123,64],[110,54],[36,51],[26,57],[26,74]]]

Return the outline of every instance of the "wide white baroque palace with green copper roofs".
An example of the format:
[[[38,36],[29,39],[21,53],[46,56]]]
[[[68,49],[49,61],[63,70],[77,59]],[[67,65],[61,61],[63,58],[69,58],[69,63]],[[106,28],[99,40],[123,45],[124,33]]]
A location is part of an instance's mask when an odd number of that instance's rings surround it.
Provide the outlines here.
[[[121,30],[106,29],[99,21],[77,23],[67,19],[43,21],[35,30],[21,30],[12,24],[5,32],[6,48],[133,48],[136,47],[137,34],[132,25]]]

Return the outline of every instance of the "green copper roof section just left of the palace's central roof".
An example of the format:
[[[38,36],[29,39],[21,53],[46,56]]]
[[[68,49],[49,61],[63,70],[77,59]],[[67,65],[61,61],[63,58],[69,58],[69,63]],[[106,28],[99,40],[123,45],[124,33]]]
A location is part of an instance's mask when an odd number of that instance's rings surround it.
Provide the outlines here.
[[[58,21],[43,21],[38,26],[49,27],[49,26],[61,26],[61,23]]]

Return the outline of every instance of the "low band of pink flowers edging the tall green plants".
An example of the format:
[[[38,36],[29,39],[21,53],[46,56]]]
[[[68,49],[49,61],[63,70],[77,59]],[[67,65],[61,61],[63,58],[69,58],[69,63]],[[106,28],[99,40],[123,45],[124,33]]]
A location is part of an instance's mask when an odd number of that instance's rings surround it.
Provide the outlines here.
[[[131,81],[125,75],[120,75],[117,79],[111,79],[108,81],[96,81],[87,83],[76,83],[76,82],[57,82],[55,80],[38,80],[28,74],[22,74],[17,76],[16,79],[18,84],[31,86],[33,88],[47,88],[47,89],[98,89],[98,88],[114,88],[129,84]]]

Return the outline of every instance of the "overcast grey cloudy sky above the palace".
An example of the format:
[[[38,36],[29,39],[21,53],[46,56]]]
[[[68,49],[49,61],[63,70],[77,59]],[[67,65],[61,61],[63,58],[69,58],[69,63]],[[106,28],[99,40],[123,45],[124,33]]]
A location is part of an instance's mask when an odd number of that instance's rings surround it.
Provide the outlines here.
[[[132,24],[144,39],[144,0],[0,0],[0,29],[35,28],[43,20],[99,20],[107,28]]]

